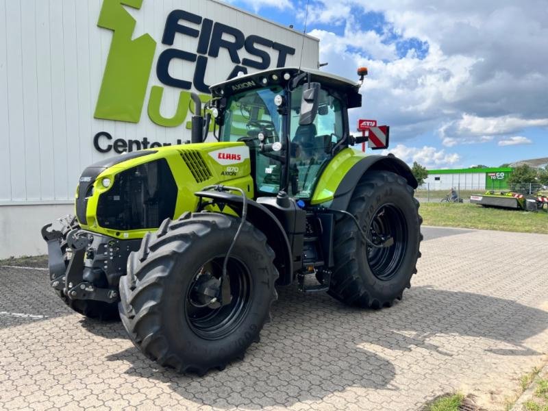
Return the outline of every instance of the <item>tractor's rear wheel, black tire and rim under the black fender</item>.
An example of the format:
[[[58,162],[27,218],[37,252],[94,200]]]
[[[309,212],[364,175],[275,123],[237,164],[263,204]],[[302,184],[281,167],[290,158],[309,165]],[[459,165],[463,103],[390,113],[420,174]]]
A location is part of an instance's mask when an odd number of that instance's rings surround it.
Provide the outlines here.
[[[406,179],[388,171],[369,171],[353,192],[348,212],[356,216],[369,240],[390,235],[394,244],[366,244],[348,217],[335,226],[335,269],[329,295],[349,306],[382,308],[401,299],[416,273],[422,218],[419,201]]]

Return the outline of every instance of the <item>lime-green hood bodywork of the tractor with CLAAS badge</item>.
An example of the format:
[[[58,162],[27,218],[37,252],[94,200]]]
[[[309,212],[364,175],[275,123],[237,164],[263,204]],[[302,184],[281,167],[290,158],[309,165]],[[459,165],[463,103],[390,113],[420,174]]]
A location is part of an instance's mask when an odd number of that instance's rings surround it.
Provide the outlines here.
[[[220,149],[234,149],[235,147],[242,147],[243,149],[249,151],[243,142],[210,142],[192,145],[174,145],[149,149],[148,151],[156,152],[150,155],[132,158],[109,167],[99,174],[93,183],[93,193],[91,197],[88,197],[88,205],[86,208],[87,224],[81,224],[82,229],[87,229],[91,232],[97,232],[99,234],[105,234],[114,238],[122,238],[124,240],[142,238],[147,232],[158,229],[158,227],[149,227],[148,229],[136,229],[124,232],[116,229],[101,227],[97,221],[97,205],[99,202],[99,196],[114,186],[114,184],[111,184],[109,188],[103,187],[102,180],[105,177],[108,177],[114,183],[116,175],[122,171],[139,166],[140,164],[158,160],[160,158],[164,158],[167,161],[169,168],[173,173],[175,184],[177,185],[177,201],[175,204],[175,213],[173,218],[177,218],[187,211],[195,211],[198,204],[198,198],[194,195],[194,193],[200,191],[203,187],[210,186],[212,184],[223,184],[226,186],[241,188],[244,190],[247,197],[252,199],[254,197],[254,191],[249,155],[247,155],[247,158],[246,156],[242,156],[241,162],[229,165],[219,164],[219,162],[214,159],[214,156],[210,155],[210,153]],[[203,162],[206,163],[211,172],[209,179],[206,179],[200,183],[197,182],[186,165],[186,162],[182,158],[182,153],[185,151],[194,151],[195,153],[198,153],[198,155],[201,155]],[[230,169],[229,173],[227,173],[227,168]]]

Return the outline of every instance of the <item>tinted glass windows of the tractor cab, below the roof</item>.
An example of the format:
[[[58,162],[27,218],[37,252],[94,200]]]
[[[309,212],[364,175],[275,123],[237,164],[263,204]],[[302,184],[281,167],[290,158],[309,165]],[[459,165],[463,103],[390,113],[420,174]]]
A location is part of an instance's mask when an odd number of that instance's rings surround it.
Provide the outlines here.
[[[279,114],[277,95],[286,101],[287,115]],[[260,194],[273,195],[282,186],[282,168],[288,178],[288,191],[293,197],[309,199],[332,149],[344,136],[343,103],[329,90],[320,90],[319,108],[314,122],[299,125],[303,86],[289,94],[280,86],[240,92],[229,97],[224,114],[221,141],[253,141],[251,156],[255,164],[256,188]],[[288,97],[286,97],[288,96]],[[277,98],[279,103],[279,97]],[[282,136],[284,121],[288,136]],[[260,149],[260,142],[281,142],[289,149],[289,163],[284,154]],[[289,142],[289,145],[288,145]],[[252,147],[253,147],[252,145]]]

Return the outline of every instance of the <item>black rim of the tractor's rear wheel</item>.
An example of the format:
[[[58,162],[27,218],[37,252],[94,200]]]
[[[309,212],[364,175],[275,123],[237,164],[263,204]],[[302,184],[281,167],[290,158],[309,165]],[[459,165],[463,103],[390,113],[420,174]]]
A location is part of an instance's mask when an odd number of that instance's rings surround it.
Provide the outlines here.
[[[375,212],[366,236],[376,245],[383,242],[383,238],[391,236],[394,244],[390,247],[373,247],[366,245],[367,262],[373,275],[387,281],[394,277],[406,255],[407,225],[405,216],[394,204],[385,204]]]

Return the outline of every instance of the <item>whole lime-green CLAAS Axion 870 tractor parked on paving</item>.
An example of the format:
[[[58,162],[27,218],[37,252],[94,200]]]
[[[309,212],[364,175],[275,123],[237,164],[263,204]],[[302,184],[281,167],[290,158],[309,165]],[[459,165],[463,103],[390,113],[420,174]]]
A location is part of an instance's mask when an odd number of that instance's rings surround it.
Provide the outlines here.
[[[152,360],[199,374],[258,340],[277,286],[391,306],[420,256],[417,184],[393,155],[349,147],[366,140],[348,121],[358,74],[229,79],[193,117],[191,144],[89,166],[76,216],[42,229],[51,286],[86,316],[120,316]],[[216,141],[203,142],[210,122]]]

